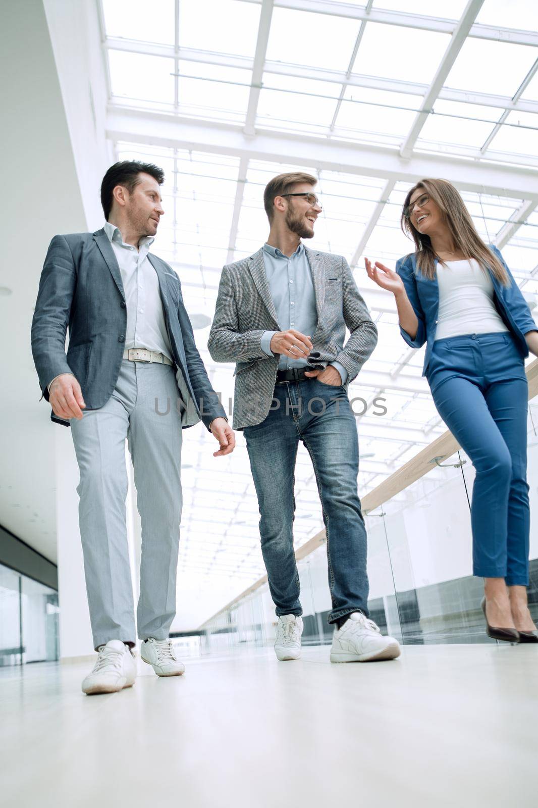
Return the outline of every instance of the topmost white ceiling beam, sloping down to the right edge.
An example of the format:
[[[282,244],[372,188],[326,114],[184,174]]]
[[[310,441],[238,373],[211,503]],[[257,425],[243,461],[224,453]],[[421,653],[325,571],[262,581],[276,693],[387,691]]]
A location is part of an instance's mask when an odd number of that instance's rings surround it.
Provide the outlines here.
[[[259,4],[260,0],[243,0],[243,2]],[[367,19],[372,23],[418,28],[421,31],[436,31],[442,34],[452,34],[457,26],[456,20],[453,19],[407,14],[404,11],[388,11],[383,8],[367,11],[364,6],[351,6],[347,2],[337,2],[337,0],[275,0],[275,8],[312,11],[315,14],[328,14],[346,19]],[[538,45],[538,33],[534,31],[519,31],[515,28],[482,25],[481,23],[473,25],[469,36],[495,42],[511,42],[534,47]]]

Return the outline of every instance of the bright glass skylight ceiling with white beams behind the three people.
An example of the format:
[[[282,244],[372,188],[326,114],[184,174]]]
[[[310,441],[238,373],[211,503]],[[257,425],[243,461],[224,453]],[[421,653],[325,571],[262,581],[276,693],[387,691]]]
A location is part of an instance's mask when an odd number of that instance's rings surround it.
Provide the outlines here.
[[[166,171],[155,251],[178,271],[190,314],[212,318],[223,264],[267,238],[267,181],[297,168],[317,176],[324,208],[309,246],[345,255],[380,335],[350,389],[357,413],[368,406],[357,417],[361,495],[444,430],[422,351],[403,343],[392,298],[364,273],[364,255],[393,267],[412,250],[399,223],[410,184],[457,171],[482,238],[502,248],[532,305],[538,293],[538,183],[528,182],[538,169],[538,5],[476,2],[451,66],[444,55],[467,5],[154,0],[149,10],[142,0],[102,0],[110,112],[122,122],[116,155]],[[438,74],[442,86],[423,109]],[[208,326],[195,335],[228,408],[233,367],[212,362]],[[225,576],[237,594],[264,572],[258,506],[241,433],[224,460],[212,457],[213,443],[201,428],[184,433],[180,569]],[[322,525],[305,452],[296,481],[301,545]]]

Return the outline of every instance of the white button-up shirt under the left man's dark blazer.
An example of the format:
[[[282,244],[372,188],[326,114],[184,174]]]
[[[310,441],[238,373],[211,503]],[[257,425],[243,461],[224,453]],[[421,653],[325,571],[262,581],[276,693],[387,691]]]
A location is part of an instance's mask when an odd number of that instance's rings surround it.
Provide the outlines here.
[[[116,225],[107,221],[104,229],[116,255],[124,284],[127,304],[125,348],[146,348],[163,353],[171,360],[158,276],[148,259],[149,247],[154,239],[150,236],[141,238],[137,250],[131,244],[125,244]]]

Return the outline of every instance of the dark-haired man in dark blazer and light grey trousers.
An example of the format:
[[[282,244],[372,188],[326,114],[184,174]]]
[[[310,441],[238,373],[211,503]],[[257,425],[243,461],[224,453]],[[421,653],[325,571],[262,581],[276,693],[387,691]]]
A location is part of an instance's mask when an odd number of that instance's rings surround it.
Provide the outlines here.
[[[175,614],[182,427],[200,419],[233,451],[233,431],[196,350],[181,284],[149,252],[164,211],[162,169],[107,171],[96,233],[55,236],[41,274],[32,351],[52,419],[70,425],[80,469],[79,520],[97,662],[86,693],[130,687],[136,667],[125,498],[125,440],[141,515],[137,607],[141,657],[161,676],[184,671],[168,633]],[[69,348],[65,335],[69,326]]]

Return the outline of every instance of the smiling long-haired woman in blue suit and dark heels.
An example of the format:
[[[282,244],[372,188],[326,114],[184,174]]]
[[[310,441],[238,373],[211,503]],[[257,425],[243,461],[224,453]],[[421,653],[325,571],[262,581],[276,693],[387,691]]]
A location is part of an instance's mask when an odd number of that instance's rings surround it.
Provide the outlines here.
[[[402,229],[416,252],[393,272],[366,259],[396,300],[401,335],[427,343],[423,375],[439,415],[476,469],[473,573],[485,579],[489,637],[538,642],[527,608],[527,379],[538,355],[527,303],[495,246],[482,242],[456,188],[422,179],[408,191]]]

